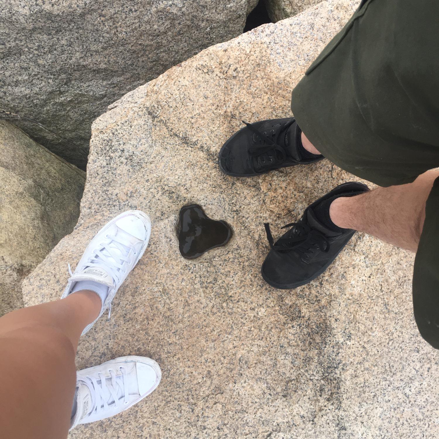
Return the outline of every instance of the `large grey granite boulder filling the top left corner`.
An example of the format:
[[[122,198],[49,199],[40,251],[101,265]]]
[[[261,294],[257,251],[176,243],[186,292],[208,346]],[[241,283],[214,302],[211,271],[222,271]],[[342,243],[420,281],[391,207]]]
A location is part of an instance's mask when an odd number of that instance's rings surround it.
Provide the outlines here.
[[[242,33],[258,0],[8,0],[0,9],[0,108],[81,167],[91,122],[205,47]]]

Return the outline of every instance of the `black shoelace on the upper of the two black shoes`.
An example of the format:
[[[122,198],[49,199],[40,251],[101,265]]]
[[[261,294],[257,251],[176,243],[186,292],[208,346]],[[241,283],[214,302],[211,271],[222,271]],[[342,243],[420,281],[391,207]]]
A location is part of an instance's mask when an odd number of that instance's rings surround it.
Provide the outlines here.
[[[247,125],[248,128],[256,134],[261,142],[260,146],[248,148],[248,155],[255,159],[255,171],[258,172],[256,168],[259,168],[260,172],[264,172],[266,169],[273,169],[281,166],[287,158],[287,155],[284,148],[273,140],[275,137],[275,130],[265,130],[261,133],[251,123],[247,123],[245,120],[242,122],[245,123],[245,125]],[[278,135],[282,132],[285,132],[285,130],[287,130],[293,122],[294,120],[290,120],[285,123],[284,126],[278,130]],[[292,158],[290,159],[294,160]]]

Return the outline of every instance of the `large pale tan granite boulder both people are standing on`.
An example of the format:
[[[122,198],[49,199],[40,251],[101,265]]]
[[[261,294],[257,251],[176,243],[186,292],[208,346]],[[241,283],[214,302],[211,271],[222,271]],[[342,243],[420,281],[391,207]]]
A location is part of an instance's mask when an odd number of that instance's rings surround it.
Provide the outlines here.
[[[351,15],[327,1],[204,50],[112,105],[92,127],[76,230],[25,280],[25,302],[56,299],[101,225],[126,209],[150,245],[81,339],[79,368],[146,355],[163,378],[142,403],[71,438],[429,438],[437,436],[437,353],[412,315],[413,256],[356,235],[309,285],[260,275],[274,233],[354,177],[323,160],[234,179],[217,166],[241,119],[290,114],[291,88]],[[198,203],[234,237],[199,259],[179,252],[180,207]]]

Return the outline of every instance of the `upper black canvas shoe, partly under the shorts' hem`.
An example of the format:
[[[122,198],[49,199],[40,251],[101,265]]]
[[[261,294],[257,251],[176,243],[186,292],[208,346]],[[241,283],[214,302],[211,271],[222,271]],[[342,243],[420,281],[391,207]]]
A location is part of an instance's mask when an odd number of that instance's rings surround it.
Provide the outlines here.
[[[219,151],[219,169],[227,175],[249,177],[323,158],[303,148],[302,130],[294,118],[244,123],[246,126],[234,133]]]

